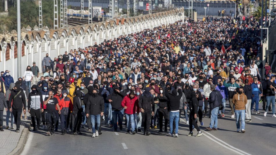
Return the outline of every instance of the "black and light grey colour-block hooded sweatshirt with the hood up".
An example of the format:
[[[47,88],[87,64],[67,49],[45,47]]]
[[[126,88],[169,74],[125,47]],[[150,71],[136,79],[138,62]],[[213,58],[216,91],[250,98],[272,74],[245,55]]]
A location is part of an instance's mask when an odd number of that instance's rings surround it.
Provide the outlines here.
[[[32,92],[28,96],[28,109],[40,109],[43,107],[43,99],[41,92],[37,91],[37,85],[32,86]],[[35,89],[35,90],[33,90]]]

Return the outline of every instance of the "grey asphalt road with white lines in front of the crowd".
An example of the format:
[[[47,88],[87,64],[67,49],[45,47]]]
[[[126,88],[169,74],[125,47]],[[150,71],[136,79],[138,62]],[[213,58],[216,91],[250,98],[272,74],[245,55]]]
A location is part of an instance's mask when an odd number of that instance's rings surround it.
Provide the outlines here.
[[[83,135],[63,136],[58,132],[46,136],[45,131],[31,132],[22,154],[275,154],[276,118],[270,112],[266,117],[263,111],[253,114],[244,134],[236,133],[235,119],[230,118],[228,107],[225,114],[225,118],[218,120],[218,131],[205,131],[210,119],[204,118],[204,134],[200,137],[187,136],[188,125],[183,119],[178,138],[159,134],[158,129],[152,129],[150,136],[125,134],[126,128],[115,134],[106,126],[96,138],[84,129]]]

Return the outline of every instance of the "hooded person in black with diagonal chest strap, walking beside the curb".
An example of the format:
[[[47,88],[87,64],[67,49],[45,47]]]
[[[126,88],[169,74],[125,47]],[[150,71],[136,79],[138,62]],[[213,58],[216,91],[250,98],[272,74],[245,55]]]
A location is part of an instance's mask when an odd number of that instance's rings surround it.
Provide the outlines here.
[[[16,132],[20,132],[20,116],[23,112],[26,113],[26,97],[23,91],[20,89],[20,85],[16,84],[14,91],[10,93],[8,108],[12,112],[16,123]]]

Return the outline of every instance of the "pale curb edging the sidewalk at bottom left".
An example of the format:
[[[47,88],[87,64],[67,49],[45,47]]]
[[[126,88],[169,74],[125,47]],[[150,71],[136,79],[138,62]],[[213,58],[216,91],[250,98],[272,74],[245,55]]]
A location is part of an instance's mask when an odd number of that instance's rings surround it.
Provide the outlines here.
[[[8,155],[19,155],[19,154],[21,154],[21,152],[24,149],[24,145],[27,142],[28,135],[29,135],[29,129],[24,127],[15,149],[13,149],[12,152],[8,153]]]

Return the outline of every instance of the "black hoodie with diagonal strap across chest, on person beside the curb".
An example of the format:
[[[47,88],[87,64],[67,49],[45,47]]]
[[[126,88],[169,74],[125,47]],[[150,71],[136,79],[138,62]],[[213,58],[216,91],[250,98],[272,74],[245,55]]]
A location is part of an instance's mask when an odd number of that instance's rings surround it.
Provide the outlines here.
[[[10,93],[8,107],[12,109],[26,109],[26,98],[24,92],[20,89],[19,84],[16,84],[15,88],[17,88],[17,90]]]

